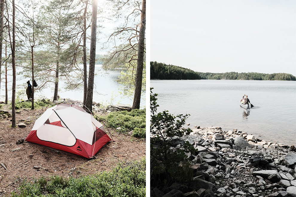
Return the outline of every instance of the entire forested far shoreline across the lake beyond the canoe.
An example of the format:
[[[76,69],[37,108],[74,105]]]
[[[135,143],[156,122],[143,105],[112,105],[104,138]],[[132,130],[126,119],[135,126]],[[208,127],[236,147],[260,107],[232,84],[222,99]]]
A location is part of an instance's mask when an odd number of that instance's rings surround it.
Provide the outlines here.
[[[295,76],[287,73],[201,73],[188,68],[170,64],[150,62],[150,79],[224,79],[224,80],[280,80],[296,81]]]

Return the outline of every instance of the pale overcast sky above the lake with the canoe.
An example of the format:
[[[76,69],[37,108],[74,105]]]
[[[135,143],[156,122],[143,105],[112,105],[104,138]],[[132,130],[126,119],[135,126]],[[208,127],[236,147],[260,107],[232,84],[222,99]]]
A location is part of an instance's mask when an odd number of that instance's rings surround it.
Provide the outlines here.
[[[150,61],[296,76],[296,1],[150,0]]]

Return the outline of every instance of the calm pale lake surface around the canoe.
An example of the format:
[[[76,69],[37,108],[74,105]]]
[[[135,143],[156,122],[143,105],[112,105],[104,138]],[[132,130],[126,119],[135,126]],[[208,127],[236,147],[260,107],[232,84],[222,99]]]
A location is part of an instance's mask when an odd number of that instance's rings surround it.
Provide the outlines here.
[[[150,80],[158,111],[190,114],[190,128],[238,129],[265,141],[296,144],[296,81]],[[246,94],[255,106],[245,110]]]

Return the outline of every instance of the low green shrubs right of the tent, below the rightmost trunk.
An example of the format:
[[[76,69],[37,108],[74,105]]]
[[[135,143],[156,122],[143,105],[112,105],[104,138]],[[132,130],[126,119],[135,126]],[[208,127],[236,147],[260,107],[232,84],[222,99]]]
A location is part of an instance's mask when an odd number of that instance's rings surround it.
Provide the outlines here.
[[[107,127],[114,129],[120,127],[119,132],[128,133],[134,130],[133,136],[146,137],[146,109],[111,112],[107,116],[100,116]]]

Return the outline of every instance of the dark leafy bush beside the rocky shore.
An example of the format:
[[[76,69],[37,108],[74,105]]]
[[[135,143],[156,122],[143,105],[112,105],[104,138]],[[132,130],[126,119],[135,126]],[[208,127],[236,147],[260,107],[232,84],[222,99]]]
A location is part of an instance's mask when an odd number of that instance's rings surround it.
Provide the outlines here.
[[[196,149],[188,141],[181,146],[175,143],[190,134],[190,128],[183,128],[189,114],[173,116],[168,111],[157,113],[157,94],[150,89],[150,175],[151,185],[164,182],[187,184],[193,179],[193,170],[186,153],[195,154]]]

